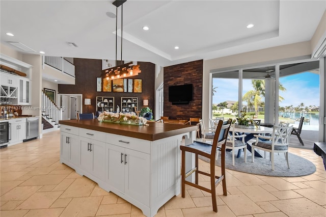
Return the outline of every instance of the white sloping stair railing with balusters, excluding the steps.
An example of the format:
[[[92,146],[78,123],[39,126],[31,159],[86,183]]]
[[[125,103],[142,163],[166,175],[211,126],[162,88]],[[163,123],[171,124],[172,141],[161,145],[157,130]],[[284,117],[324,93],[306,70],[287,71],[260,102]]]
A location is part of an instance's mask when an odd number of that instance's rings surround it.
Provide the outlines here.
[[[42,116],[54,125],[60,127],[59,121],[62,120],[63,108],[56,105],[42,90]]]

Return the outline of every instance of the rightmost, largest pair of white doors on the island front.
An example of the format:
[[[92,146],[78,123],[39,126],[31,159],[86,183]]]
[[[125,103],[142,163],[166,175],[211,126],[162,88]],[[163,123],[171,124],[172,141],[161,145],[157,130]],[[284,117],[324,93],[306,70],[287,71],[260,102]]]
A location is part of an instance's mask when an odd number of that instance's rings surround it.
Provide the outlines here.
[[[108,184],[149,206],[150,155],[107,144]]]

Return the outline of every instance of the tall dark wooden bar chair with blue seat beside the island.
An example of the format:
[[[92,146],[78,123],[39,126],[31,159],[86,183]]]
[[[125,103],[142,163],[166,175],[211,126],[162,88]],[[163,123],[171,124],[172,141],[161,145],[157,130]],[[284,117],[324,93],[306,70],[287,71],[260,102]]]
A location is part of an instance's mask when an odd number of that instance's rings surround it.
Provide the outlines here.
[[[223,195],[227,196],[226,189],[226,177],[225,177],[225,146],[226,139],[229,133],[230,125],[232,119],[229,119],[226,124],[223,125],[223,121],[220,120],[218,126],[216,127],[214,133],[214,139],[212,144],[194,142],[190,145],[180,146],[181,149],[181,197],[185,197],[185,185],[191,185],[193,187],[199,188],[202,191],[208,192],[212,197],[213,211],[218,212],[218,206],[216,204],[216,186],[222,181]],[[215,156],[216,152],[221,150],[221,176],[215,175]],[[185,171],[185,152],[190,152],[195,154],[195,168],[190,171]],[[199,170],[198,167],[198,155],[207,157],[210,159],[210,173]],[[195,172],[195,183],[185,180],[186,177]],[[210,177],[210,189],[204,187],[198,182],[198,174],[202,174]],[[215,180],[217,179],[217,180]]]

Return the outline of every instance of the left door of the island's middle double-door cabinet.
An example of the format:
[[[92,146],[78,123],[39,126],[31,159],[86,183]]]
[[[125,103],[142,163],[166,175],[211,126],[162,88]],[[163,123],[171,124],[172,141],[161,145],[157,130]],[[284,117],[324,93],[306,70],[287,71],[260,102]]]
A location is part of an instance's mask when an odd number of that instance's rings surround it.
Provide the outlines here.
[[[85,171],[92,173],[93,170],[93,152],[90,151],[91,140],[80,137],[80,167]]]

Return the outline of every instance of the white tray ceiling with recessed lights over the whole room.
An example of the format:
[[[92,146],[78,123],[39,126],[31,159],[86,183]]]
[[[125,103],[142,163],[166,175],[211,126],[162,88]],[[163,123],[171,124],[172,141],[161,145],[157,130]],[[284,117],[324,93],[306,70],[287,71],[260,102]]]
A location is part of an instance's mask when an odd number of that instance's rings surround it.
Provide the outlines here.
[[[116,13],[112,2],[2,0],[1,43],[21,42],[48,56],[115,60],[116,19],[106,16]],[[308,41],[325,9],[326,1],[128,0],[122,59],[168,66]],[[121,7],[118,29],[120,18]],[[255,26],[247,29],[249,23]]]

